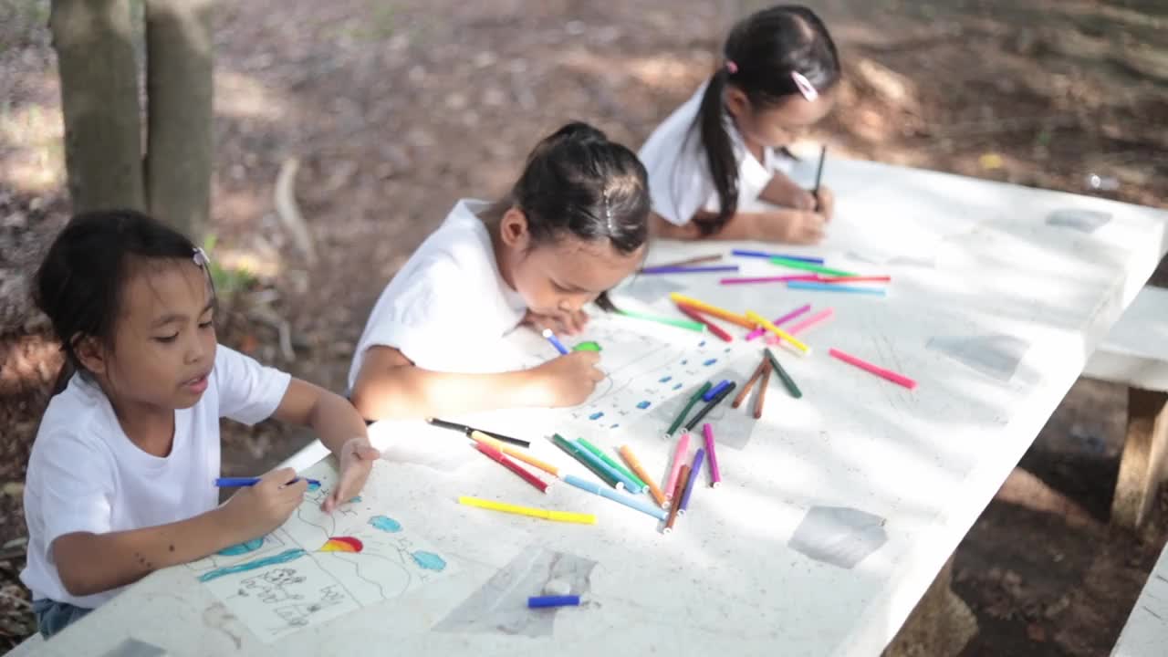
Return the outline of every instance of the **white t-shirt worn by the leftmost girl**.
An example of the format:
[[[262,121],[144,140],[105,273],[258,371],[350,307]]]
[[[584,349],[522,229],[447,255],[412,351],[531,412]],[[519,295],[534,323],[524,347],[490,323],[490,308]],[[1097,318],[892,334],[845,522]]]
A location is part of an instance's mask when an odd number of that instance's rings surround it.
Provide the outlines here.
[[[33,600],[96,608],[117,595],[120,588],[69,595],[53,562],[53,541],[74,532],[165,525],[215,509],[220,417],[244,424],[265,420],[279,407],[290,379],[220,345],[203,396],[174,412],[174,443],[162,458],[130,442],[100,388],[74,375],[49,401],[28,459],[28,565],[20,579]]]

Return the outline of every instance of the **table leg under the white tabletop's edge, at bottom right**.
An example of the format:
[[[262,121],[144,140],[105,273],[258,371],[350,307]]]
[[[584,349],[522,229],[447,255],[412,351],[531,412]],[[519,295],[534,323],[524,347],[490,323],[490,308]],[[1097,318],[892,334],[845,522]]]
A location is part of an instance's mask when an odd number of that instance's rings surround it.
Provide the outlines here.
[[[978,618],[950,588],[952,581],[950,556],[883,657],[953,657],[961,652],[978,634]]]

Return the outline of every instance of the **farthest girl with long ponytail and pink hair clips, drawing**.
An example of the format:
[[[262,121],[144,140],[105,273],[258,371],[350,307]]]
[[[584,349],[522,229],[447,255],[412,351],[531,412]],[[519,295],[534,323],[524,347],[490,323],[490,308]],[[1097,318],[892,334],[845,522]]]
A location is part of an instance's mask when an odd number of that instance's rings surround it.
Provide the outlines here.
[[[763,9],[734,27],[725,61],[641,147],[653,228],[680,240],[813,243],[832,217],[785,172],[786,146],[832,109],[840,63],[827,27],[800,6]],[[763,200],[783,209],[743,212]]]

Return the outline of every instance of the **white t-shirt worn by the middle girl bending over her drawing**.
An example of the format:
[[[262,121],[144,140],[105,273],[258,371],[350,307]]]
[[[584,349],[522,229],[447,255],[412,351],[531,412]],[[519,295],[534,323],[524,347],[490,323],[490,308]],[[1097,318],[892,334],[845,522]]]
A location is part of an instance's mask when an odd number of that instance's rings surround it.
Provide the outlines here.
[[[349,390],[369,347],[395,347],[423,369],[479,371],[477,364],[523,320],[527,304],[503,281],[477,216],[487,207],[471,199],[454,203],[389,282],[357,341]]]

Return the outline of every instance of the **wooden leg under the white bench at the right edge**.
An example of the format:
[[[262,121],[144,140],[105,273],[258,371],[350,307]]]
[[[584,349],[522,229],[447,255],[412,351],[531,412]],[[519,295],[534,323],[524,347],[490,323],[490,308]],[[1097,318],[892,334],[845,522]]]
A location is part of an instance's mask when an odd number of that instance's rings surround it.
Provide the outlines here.
[[[1119,479],[1111,521],[1136,530],[1147,519],[1163,479],[1168,452],[1168,393],[1127,389],[1127,437],[1119,459]]]

